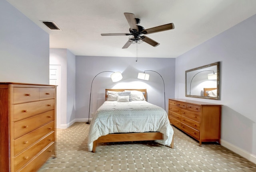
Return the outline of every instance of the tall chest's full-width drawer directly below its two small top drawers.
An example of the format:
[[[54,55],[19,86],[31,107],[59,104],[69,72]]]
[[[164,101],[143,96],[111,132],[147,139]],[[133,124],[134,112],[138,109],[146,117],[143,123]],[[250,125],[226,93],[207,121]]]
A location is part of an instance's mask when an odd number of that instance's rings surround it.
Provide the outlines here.
[[[14,105],[14,121],[19,121],[27,117],[54,109],[55,100],[43,100]]]

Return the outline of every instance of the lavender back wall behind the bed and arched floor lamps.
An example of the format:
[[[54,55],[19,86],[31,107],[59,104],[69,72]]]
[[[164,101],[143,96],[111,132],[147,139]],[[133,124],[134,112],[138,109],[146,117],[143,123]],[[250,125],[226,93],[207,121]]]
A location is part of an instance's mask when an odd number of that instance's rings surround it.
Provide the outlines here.
[[[175,59],[127,57],[76,56],[76,119],[88,119],[90,88],[92,79],[102,71],[120,71],[123,79],[112,82],[111,72],[99,74],[92,85],[90,112],[95,112],[105,101],[106,88],[146,88],[148,102],[164,108],[164,84],[156,72],[148,72],[148,81],[139,80],[138,72],[154,70],[161,74],[165,82],[166,111],[168,98],[174,98]]]

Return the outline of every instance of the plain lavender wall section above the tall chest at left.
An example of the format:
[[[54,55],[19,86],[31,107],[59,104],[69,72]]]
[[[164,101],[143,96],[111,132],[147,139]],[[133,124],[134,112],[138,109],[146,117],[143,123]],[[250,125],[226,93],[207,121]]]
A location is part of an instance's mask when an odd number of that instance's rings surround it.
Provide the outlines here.
[[[49,84],[49,35],[0,0],[0,82]]]

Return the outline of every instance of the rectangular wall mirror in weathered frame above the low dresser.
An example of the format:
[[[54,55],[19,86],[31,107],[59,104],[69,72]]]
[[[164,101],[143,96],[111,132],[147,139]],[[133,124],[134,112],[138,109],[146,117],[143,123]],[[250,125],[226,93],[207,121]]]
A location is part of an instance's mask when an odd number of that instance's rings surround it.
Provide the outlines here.
[[[220,100],[220,62],[185,71],[186,97]]]

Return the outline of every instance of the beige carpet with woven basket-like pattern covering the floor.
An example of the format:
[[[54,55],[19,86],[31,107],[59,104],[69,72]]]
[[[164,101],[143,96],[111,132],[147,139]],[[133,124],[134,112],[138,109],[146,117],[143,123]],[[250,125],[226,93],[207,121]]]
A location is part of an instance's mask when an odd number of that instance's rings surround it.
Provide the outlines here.
[[[57,130],[57,158],[38,172],[256,172],[256,164],[217,143],[198,142],[174,128],[174,149],[155,142],[126,142],[87,149],[90,125]]]

